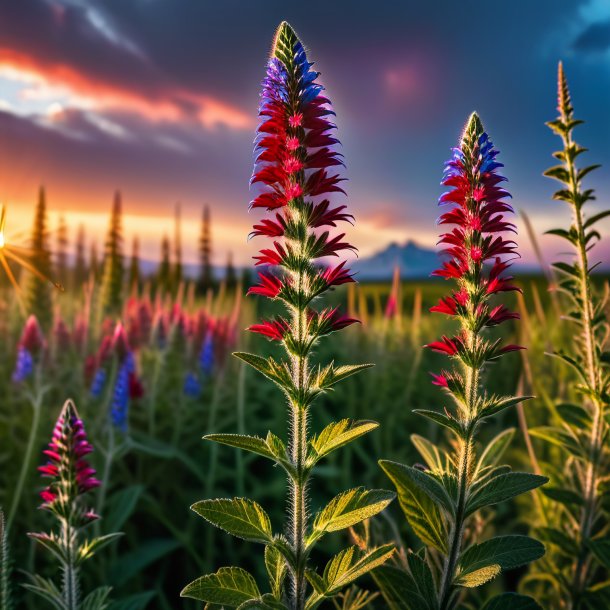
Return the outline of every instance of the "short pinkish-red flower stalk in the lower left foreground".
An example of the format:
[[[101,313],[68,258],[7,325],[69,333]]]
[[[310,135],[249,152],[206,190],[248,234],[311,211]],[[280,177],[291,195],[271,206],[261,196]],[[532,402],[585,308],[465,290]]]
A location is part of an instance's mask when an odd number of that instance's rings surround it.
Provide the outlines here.
[[[31,576],[27,589],[51,602],[57,608],[102,610],[107,607],[110,587],[102,586],[85,598],[80,588],[81,564],[120,534],[87,539],[83,530],[99,516],[84,503],[84,496],[99,486],[95,470],[86,456],[93,451],[85,427],[74,403],[66,401],[53,430],[53,438],[44,451],[47,463],[39,467],[50,480],[40,492],[41,509],[53,514],[57,531],[29,534],[57,559],[62,571],[62,585],[39,575]]]

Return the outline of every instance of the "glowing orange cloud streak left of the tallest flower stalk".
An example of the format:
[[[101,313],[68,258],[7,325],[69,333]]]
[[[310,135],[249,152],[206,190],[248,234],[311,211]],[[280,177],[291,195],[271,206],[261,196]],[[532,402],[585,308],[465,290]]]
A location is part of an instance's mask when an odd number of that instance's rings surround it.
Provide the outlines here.
[[[9,78],[33,85],[26,96],[40,97],[62,90],[74,104],[88,109],[108,109],[134,113],[150,121],[194,120],[205,128],[225,125],[232,129],[252,129],[252,117],[241,109],[205,94],[178,87],[138,92],[102,79],[92,79],[65,63],[45,61],[6,47],[0,48],[0,71]],[[195,109],[189,112],[186,108]]]

